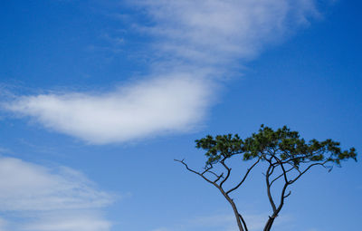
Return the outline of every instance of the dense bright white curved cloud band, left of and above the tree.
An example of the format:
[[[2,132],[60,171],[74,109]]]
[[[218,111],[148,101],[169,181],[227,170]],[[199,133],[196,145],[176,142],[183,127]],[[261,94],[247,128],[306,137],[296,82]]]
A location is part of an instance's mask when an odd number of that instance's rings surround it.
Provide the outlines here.
[[[5,108],[32,116],[52,130],[104,144],[192,129],[204,117],[210,88],[201,79],[177,74],[99,95],[21,97]]]

